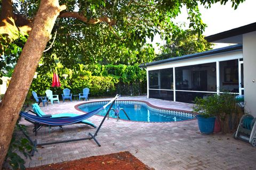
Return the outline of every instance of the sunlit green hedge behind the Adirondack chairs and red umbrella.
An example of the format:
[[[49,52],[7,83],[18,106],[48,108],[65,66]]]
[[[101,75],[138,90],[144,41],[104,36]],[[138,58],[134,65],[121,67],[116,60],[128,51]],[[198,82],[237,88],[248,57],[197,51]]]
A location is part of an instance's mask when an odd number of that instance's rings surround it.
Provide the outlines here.
[[[71,93],[78,94],[85,87],[90,89],[90,96],[141,95],[146,93],[146,71],[138,65],[79,65],[77,70],[69,70],[58,65],[61,87],[51,87],[52,72],[38,67],[37,78],[33,80],[30,90],[38,96],[45,96],[45,90],[51,89],[54,94],[61,95],[62,90],[69,88]],[[64,79],[62,74],[68,74]]]

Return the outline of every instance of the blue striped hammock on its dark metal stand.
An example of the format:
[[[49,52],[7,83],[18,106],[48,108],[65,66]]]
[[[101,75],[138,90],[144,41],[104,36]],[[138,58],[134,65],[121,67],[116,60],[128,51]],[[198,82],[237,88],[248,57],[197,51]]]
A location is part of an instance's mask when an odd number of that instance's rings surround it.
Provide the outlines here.
[[[32,145],[34,145],[33,151],[32,151],[32,156],[34,155],[34,152],[36,150],[37,146],[44,146],[44,145],[52,145],[52,144],[57,144],[57,143],[65,143],[65,142],[72,142],[72,141],[81,141],[81,140],[91,140],[93,139],[97,145],[100,147],[100,143],[97,141],[96,137],[98,135],[98,132],[103,124],[103,122],[106,120],[106,117],[108,116],[112,106],[115,103],[115,100],[117,99],[117,97],[119,97],[119,95],[116,95],[115,98],[113,98],[112,100],[109,101],[109,103],[107,103],[106,105],[95,109],[92,112],[89,113],[85,113],[83,115],[79,115],[79,116],[75,116],[75,117],[66,117],[66,118],[49,118],[49,117],[39,117],[39,116],[35,116],[35,115],[31,115],[28,112],[20,112],[20,116],[24,117],[25,120],[37,124],[39,126],[62,126],[62,125],[68,125],[68,124],[74,124],[74,123],[78,123],[81,122],[83,120],[86,120],[87,118],[99,113],[100,111],[102,111],[103,109],[105,109],[108,105],[110,105],[106,115],[103,117],[98,129],[96,130],[96,132],[94,134],[89,133],[90,137],[87,138],[81,138],[81,139],[71,139],[71,140],[63,140],[63,141],[54,141],[54,142],[47,142],[47,143],[40,143],[38,144],[37,141],[32,141],[28,135],[26,133],[23,134],[26,135],[26,137],[28,138],[28,140],[31,142]]]

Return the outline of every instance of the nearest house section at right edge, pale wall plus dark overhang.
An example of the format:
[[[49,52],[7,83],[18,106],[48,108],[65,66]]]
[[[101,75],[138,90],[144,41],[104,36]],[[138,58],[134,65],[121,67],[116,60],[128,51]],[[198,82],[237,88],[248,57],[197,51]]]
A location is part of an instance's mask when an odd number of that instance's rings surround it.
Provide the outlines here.
[[[256,22],[205,37],[212,43],[235,43],[243,45],[244,100],[247,113],[256,116]]]

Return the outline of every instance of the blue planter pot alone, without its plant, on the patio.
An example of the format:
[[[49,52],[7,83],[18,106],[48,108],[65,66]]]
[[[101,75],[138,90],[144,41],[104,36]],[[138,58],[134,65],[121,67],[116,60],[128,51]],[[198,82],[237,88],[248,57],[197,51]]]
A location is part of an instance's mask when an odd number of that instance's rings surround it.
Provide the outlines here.
[[[197,115],[199,130],[204,134],[211,134],[214,130],[215,117],[205,118],[202,115]]]

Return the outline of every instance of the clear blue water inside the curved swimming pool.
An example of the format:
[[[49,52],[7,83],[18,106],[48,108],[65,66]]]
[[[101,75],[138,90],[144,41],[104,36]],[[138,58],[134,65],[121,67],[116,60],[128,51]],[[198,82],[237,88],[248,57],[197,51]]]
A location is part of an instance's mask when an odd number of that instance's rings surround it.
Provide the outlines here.
[[[149,107],[145,103],[121,103],[114,104],[113,108],[116,107],[123,108],[127,115],[130,117],[131,121],[141,121],[141,122],[177,122],[177,121],[185,121],[191,120],[195,118],[194,114],[191,114],[187,111],[171,111],[166,109],[157,109],[153,107]],[[105,103],[90,103],[80,105],[78,108],[84,112],[91,112],[95,109],[105,105]],[[98,113],[98,115],[105,116],[110,106],[106,109]],[[109,117],[116,118],[115,112],[113,110],[110,111]],[[121,110],[119,112],[119,117],[123,120],[128,120],[124,112]]]

